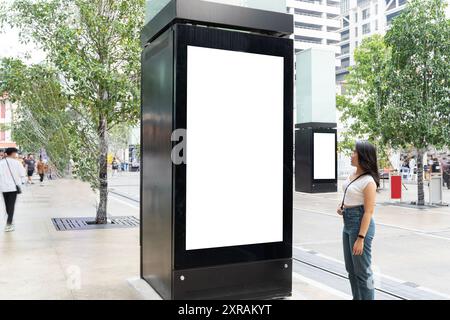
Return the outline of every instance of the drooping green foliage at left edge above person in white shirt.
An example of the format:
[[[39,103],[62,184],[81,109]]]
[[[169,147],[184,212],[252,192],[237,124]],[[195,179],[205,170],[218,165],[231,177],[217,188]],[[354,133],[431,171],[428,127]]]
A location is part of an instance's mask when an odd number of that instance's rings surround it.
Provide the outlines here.
[[[18,104],[12,124],[13,140],[27,152],[45,148],[60,174],[70,159],[70,124],[67,99],[61,92],[55,70],[20,60],[4,59],[0,64],[0,92]]]

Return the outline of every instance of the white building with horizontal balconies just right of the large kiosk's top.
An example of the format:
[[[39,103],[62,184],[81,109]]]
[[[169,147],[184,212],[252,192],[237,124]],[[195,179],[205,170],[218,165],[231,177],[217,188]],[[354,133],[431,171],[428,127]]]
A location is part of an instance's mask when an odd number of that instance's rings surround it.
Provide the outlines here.
[[[287,0],[286,6],[294,15],[296,52],[316,48],[339,54],[340,0]]]

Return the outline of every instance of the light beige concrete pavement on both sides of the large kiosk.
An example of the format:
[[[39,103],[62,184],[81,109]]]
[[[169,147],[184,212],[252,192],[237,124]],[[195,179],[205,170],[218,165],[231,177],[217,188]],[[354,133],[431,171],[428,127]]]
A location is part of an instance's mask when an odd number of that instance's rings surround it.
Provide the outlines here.
[[[137,173],[111,178],[111,215],[139,215],[138,178]],[[408,192],[412,200],[414,191]],[[444,192],[449,201],[450,192]],[[341,197],[342,193],[294,194],[296,250],[342,264],[342,218],[335,213]],[[93,217],[96,201],[89,186],[76,180],[24,189],[17,204],[16,232],[0,233],[0,299],[148,298],[131,285],[139,278],[137,228],[55,230],[51,218]],[[386,202],[388,190],[382,190],[375,213],[375,272],[429,290],[430,296],[450,296],[450,209],[417,210]],[[304,268],[296,269],[292,299],[350,299],[345,279],[313,277],[302,273]]]

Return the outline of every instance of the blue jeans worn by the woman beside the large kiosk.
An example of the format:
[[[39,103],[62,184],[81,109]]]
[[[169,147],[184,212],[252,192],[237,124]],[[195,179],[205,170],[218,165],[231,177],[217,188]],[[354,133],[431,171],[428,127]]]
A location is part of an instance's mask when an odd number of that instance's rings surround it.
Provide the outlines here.
[[[361,256],[353,255],[353,245],[358,239],[364,206],[344,209],[344,246],[345,269],[352,288],[353,300],[374,300],[375,287],[373,281],[372,240],[375,236],[375,222],[370,221],[369,230],[364,239],[364,250]]]

